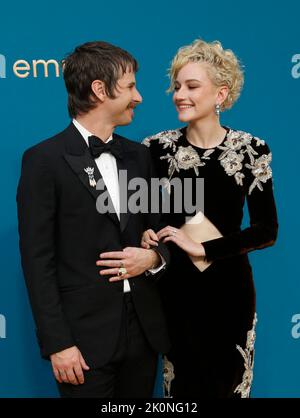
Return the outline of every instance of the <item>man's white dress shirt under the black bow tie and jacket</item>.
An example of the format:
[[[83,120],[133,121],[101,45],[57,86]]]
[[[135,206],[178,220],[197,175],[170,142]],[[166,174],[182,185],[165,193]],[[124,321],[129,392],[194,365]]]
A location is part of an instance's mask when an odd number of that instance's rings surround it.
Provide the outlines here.
[[[84,138],[87,146],[89,146],[88,138],[93,134],[85,129],[76,119],[73,119],[74,126],[78,129],[82,137]],[[105,141],[109,142],[113,139],[112,135]],[[117,162],[114,155],[110,152],[103,152],[98,158],[95,158],[95,163],[97,164],[98,170],[100,171],[107,191],[111,197],[112,203],[115,208],[116,215],[120,220],[120,188],[119,188],[119,175],[118,175],[118,168]],[[156,267],[155,269],[149,270],[151,274],[157,273],[161,270],[166,262],[161,257],[162,263]],[[130,285],[129,281],[125,279],[124,281],[124,293],[130,292]]]

